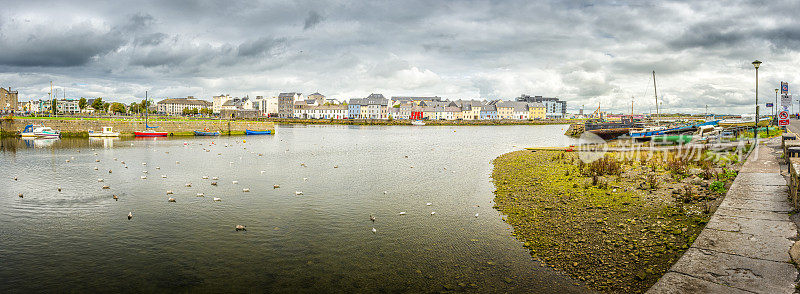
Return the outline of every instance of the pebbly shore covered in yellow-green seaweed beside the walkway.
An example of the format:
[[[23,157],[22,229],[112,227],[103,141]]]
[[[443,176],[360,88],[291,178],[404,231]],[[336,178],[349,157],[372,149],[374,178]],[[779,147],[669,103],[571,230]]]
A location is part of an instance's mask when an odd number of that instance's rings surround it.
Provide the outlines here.
[[[531,255],[601,292],[646,291],[705,227],[741,158],[516,151],[494,160],[495,208]]]

